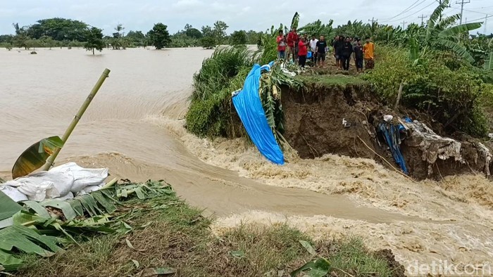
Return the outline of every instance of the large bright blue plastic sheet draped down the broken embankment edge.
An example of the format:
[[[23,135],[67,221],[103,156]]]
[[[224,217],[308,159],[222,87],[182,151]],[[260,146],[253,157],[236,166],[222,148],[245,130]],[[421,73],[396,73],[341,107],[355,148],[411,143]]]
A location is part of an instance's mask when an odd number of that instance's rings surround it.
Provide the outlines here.
[[[271,162],[284,165],[284,155],[267,123],[266,113],[258,96],[261,70],[270,70],[272,65],[273,63],[262,67],[254,65],[245,79],[243,89],[233,95],[233,105],[258,151]]]

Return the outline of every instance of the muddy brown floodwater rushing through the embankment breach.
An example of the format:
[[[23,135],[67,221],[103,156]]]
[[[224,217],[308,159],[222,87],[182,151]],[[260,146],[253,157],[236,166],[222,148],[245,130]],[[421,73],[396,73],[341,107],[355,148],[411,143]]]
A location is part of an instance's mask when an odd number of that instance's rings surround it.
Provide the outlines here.
[[[113,176],[164,179],[216,214],[215,230],[286,221],[315,238],[356,235],[399,262],[493,268],[493,186],[482,176],[413,182],[373,160],[326,155],[266,162],[242,140],[188,134],[192,75],[212,51],[0,51],[0,176],[32,143],[63,134],[105,67],[111,70],[58,162],[109,167]],[[463,266],[468,266],[464,268]],[[415,266],[415,267],[413,267]],[[493,269],[492,269],[493,272]],[[444,272],[442,272],[444,273]],[[483,274],[485,275],[485,274]],[[485,275],[487,276],[487,275]]]

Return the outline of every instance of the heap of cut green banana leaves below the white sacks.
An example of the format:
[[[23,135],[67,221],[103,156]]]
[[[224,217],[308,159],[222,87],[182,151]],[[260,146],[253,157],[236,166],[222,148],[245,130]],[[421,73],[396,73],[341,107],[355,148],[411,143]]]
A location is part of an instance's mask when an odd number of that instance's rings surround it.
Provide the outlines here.
[[[123,197],[125,191],[125,197]],[[158,195],[173,194],[173,188],[161,181],[146,183],[110,182],[99,191],[94,191],[76,198],[61,200],[44,200],[42,202],[25,201],[25,209],[13,202],[0,191],[0,216],[11,219],[11,226],[0,227],[0,269],[15,271],[22,266],[23,260],[16,258],[17,252],[35,253],[48,257],[63,251],[61,243],[77,243],[74,235],[88,233],[128,233],[132,226],[112,214],[117,210],[122,198],[154,198]],[[59,217],[49,213],[45,207],[55,208]],[[0,217],[0,218],[1,218]],[[1,220],[0,220],[1,222]],[[42,235],[46,233],[51,236]]]

